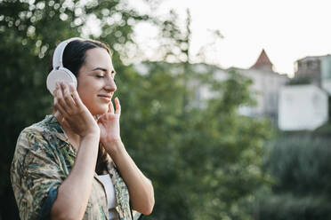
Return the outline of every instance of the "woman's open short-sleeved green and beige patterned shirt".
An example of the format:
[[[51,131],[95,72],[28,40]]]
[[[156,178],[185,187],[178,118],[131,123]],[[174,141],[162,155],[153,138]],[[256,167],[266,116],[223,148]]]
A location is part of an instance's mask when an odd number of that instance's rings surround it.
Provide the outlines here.
[[[12,160],[11,180],[21,219],[49,219],[58,187],[69,176],[77,156],[61,124],[53,115],[22,130]],[[124,180],[109,157],[108,173],[115,187],[120,220],[140,216],[131,210]],[[109,219],[106,191],[96,173],[83,219]],[[134,216],[134,217],[133,217]]]

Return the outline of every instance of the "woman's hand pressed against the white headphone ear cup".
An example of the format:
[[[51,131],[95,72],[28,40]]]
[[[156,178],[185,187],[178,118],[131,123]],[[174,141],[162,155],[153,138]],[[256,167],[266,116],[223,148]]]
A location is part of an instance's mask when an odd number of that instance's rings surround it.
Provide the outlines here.
[[[77,89],[70,83],[56,83],[53,91],[55,109],[64,122],[81,138],[89,134],[100,135],[100,129],[93,115],[79,98]]]

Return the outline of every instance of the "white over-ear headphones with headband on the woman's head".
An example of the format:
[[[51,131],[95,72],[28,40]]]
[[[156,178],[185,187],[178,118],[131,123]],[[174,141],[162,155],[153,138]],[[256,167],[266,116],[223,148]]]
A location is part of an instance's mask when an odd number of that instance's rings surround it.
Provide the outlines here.
[[[52,71],[47,76],[47,89],[51,92],[55,90],[55,83],[58,81],[74,83],[75,87],[77,88],[77,78],[76,76],[71,73],[68,68],[63,67],[62,59],[63,59],[63,51],[66,46],[76,40],[83,40],[79,37],[72,37],[68,40],[61,42],[55,49],[52,55]]]

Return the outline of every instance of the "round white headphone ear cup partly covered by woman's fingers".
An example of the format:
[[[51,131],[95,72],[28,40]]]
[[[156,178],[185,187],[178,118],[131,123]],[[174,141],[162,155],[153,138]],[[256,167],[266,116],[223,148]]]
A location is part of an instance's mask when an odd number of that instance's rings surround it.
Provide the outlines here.
[[[51,92],[55,90],[56,82],[67,82],[73,83],[75,88],[77,88],[77,78],[71,73],[68,68],[60,67],[59,69],[53,69],[51,73],[47,76],[47,89]]]

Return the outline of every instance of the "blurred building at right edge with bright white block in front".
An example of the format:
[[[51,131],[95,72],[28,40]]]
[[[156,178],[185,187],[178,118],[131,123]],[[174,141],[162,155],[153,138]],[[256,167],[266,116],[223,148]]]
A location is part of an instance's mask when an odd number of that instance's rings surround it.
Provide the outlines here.
[[[279,93],[279,129],[315,130],[328,120],[331,55],[295,61],[295,78]]]

